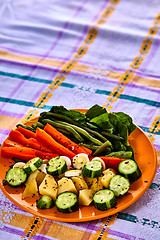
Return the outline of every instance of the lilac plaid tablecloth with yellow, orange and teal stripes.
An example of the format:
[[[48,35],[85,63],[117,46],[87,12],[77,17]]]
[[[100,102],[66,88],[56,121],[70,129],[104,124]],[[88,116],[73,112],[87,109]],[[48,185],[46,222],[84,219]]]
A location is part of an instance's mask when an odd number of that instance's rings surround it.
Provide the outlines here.
[[[160,166],[159,10],[159,0],[0,0],[0,143],[52,105],[99,104],[133,118]],[[90,222],[36,217],[0,191],[0,238],[159,240],[160,168],[136,203]]]

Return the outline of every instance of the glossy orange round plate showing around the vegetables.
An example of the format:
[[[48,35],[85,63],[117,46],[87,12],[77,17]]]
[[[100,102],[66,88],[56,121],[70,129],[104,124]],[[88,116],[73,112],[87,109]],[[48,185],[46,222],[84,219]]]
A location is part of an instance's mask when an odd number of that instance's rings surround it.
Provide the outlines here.
[[[84,112],[85,110],[80,110]],[[27,123],[26,125],[30,125]],[[22,200],[23,188],[12,188],[8,185],[3,186],[3,180],[5,179],[5,173],[9,169],[9,166],[13,164],[10,159],[5,159],[0,156],[0,188],[3,193],[10,199],[14,204],[23,210],[37,215],[42,218],[61,221],[61,222],[84,222],[95,219],[100,219],[113,215],[123,209],[129,207],[131,204],[136,202],[149,188],[153,181],[153,178],[157,169],[157,158],[153,144],[149,138],[144,134],[140,128],[129,136],[129,143],[134,149],[135,159],[142,171],[142,176],[139,180],[131,184],[130,190],[127,194],[118,198],[117,206],[107,211],[99,211],[94,206],[80,206],[79,211],[69,214],[64,214],[57,211],[54,206],[52,209],[40,210],[36,207],[36,199],[26,198]]]

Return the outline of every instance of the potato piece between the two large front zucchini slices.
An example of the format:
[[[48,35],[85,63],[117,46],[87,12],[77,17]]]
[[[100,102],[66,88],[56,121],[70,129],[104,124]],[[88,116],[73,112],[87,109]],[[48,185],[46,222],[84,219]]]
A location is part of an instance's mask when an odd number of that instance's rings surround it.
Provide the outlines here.
[[[82,189],[79,191],[79,205],[89,206],[93,199],[92,189]]]

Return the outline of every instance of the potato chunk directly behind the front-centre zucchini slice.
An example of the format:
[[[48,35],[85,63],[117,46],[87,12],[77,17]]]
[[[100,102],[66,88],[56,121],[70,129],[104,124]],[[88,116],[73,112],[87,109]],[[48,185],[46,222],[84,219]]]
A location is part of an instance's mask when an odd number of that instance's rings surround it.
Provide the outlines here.
[[[66,191],[77,194],[77,189],[73,181],[69,178],[63,177],[58,180],[58,194]]]

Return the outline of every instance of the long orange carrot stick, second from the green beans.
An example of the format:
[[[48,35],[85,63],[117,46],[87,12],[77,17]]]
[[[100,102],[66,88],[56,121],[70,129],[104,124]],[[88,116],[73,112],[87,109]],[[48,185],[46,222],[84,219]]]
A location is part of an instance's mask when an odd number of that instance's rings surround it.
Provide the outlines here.
[[[41,128],[37,128],[36,138],[41,143],[43,143],[48,149],[50,149],[53,153],[56,152],[59,155],[65,155],[71,159],[75,156],[75,154],[72,151],[70,151],[60,143],[56,142],[47,132],[45,132]]]

